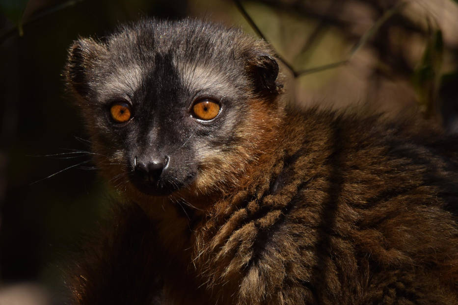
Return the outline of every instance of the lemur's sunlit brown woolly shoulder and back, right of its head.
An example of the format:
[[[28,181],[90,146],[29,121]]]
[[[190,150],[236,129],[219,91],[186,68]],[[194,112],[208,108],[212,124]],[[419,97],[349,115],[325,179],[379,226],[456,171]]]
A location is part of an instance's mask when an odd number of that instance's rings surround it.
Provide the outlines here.
[[[287,117],[274,156],[196,230],[209,285],[239,283],[239,304],[368,304],[398,285],[394,300],[457,302],[457,139],[382,115]]]

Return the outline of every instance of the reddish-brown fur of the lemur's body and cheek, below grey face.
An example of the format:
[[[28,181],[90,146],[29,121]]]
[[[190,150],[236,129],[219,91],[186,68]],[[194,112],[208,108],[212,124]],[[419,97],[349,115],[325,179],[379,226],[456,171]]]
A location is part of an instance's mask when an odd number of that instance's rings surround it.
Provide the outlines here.
[[[281,98],[251,98],[242,141],[209,150],[189,188],[127,182],[71,268],[73,303],[458,304],[457,139]]]

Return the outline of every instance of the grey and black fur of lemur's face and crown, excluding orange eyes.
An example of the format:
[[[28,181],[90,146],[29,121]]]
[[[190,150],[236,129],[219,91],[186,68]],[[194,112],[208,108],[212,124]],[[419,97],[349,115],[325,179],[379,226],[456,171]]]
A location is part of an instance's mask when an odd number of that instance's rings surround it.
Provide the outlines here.
[[[281,85],[275,83],[278,65],[269,52],[238,29],[143,20],[104,42],[77,41],[67,77],[80,96],[94,145],[129,171],[137,161],[167,160],[157,185],[166,183],[173,192],[190,186],[208,158],[237,145],[235,130],[250,99],[275,97]],[[211,124],[192,115],[193,103],[205,99],[220,109]],[[122,128],[107,116],[119,101],[133,112]]]

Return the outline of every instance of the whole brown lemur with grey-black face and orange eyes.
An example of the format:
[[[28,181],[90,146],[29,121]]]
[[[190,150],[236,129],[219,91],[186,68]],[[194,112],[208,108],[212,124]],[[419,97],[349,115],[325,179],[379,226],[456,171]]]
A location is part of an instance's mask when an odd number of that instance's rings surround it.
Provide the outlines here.
[[[458,304],[458,142],[414,119],[287,102],[271,47],[143,19],[65,77],[112,225],[71,304]]]

